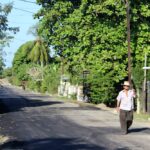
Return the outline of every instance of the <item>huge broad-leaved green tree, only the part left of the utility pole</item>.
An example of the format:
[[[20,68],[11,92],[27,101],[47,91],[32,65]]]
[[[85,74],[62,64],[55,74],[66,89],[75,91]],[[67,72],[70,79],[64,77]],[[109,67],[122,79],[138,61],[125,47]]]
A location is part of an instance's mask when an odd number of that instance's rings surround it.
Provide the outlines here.
[[[102,97],[98,93],[112,89],[113,85],[110,87],[108,84],[102,90],[96,84],[98,82],[94,80],[95,76],[101,79],[111,72],[109,78],[113,76],[112,83],[119,82],[126,76],[127,60],[122,61],[126,56],[126,28],[122,23],[125,20],[125,9],[120,7],[121,2],[115,6],[112,3],[90,0],[79,3],[54,1],[44,5],[40,11],[42,15],[43,12],[45,14],[41,17],[39,33],[49,39],[57,54],[65,57],[69,72],[79,76],[83,70],[90,70],[92,99],[95,99],[96,93],[97,98],[104,98],[99,100],[103,102],[109,97]],[[117,15],[115,11],[118,12]],[[49,31],[52,32],[47,32],[47,26],[50,26]],[[122,65],[119,66],[120,61]],[[108,78],[103,78],[101,82],[106,83],[107,80]]]

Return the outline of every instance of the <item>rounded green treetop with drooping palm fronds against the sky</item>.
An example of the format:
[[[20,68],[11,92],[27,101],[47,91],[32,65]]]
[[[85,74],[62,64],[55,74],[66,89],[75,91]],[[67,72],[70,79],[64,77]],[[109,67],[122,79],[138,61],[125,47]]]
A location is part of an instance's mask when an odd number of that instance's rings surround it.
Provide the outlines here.
[[[22,64],[36,63],[44,65],[49,61],[49,49],[39,41],[28,41],[21,45],[15,53],[13,66],[17,69]]]

